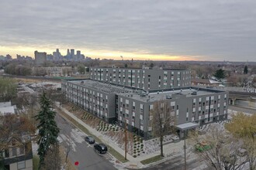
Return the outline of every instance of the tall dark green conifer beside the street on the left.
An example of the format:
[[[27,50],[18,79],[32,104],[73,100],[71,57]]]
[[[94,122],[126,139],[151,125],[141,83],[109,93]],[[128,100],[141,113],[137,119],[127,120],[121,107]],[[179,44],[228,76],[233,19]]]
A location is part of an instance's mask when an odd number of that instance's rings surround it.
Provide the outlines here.
[[[39,121],[37,128],[40,138],[37,141],[39,145],[37,153],[40,157],[40,167],[44,164],[47,151],[57,144],[60,129],[57,128],[57,123],[54,121],[55,114],[56,112],[51,107],[50,100],[47,98],[47,93],[43,91],[40,96],[40,111],[38,115],[36,115],[36,121]]]

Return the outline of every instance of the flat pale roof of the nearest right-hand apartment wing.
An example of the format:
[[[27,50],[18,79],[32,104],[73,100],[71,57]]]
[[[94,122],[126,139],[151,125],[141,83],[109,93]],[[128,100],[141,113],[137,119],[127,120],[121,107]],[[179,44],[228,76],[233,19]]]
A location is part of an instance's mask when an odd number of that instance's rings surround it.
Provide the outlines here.
[[[174,89],[168,89],[168,90],[152,90],[149,92],[142,92],[144,93],[144,95],[140,95],[140,93],[121,93],[119,95],[123,97],[131,97],[134,100],[140,100],[143,102],[154,102],[157,100],[166,100],[167,97],[170,97],[170,99],[178,99],[182,97],[213,95],[213,93],[220,93],[220,92],[223,92],[223,91],[195,88],[195,87],[184,87],[184,88],[176,88],[176,89],[174,88]]]

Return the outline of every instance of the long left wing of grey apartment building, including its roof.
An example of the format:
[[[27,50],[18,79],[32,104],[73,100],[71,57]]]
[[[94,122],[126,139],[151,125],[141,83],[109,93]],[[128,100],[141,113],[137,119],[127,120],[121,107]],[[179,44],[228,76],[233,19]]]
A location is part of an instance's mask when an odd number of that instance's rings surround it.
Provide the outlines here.
[[[64,80],[61,88],[68,100],[108,123],[115,123],[116,94],[133,89],[93,80]]]

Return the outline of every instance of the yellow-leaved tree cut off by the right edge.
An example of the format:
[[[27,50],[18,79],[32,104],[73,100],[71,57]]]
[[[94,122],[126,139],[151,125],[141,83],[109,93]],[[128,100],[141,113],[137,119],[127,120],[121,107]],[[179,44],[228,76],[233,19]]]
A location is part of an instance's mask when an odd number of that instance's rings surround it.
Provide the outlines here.
[[[250,169],[256,169],[256,114],[246,115],[238,113],[232,117],[230,123],[225,124],[230,133],[244,141],[244,147],[247,150],[247,160]]]

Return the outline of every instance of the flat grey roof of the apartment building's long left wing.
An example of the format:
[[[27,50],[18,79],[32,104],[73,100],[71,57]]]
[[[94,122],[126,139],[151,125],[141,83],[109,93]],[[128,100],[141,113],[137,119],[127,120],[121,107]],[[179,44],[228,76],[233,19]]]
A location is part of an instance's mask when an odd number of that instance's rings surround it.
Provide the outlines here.
[[[102,83],[95,80],[68,80],[68,82],[75,83],[84,87],[99,90],[105,93],[132,93],[133,89],[122,87],[120,85],[113,85],[112,83]]]

